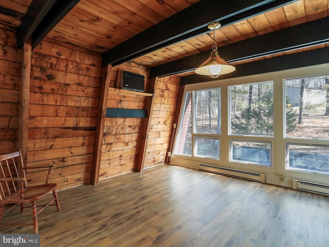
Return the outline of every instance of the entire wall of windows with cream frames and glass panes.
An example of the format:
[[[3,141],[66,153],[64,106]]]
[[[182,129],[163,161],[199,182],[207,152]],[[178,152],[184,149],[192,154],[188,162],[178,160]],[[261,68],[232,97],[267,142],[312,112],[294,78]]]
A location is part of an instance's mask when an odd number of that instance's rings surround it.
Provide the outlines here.
[[[172,164],[329,185],[328,73],[323,64],[186,84]]]

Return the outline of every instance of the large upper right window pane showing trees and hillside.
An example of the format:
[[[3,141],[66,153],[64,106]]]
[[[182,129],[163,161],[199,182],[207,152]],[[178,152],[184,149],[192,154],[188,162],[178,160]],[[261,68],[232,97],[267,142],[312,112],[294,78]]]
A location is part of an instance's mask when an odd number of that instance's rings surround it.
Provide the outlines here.
[[[329,75],[286,79],[285,137],[329,139]]]

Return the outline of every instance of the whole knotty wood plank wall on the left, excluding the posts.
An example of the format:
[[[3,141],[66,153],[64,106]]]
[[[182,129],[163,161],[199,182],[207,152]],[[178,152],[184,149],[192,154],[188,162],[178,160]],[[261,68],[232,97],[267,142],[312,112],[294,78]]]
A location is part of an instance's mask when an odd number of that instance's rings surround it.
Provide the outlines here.
[[[21,50],[14,28],[0,24],[0,46],[0,153],[7,153],[19,148]],[[144,75],[146,91],[153,89],[149,69],[134,63],[114,67],[110,87],[116,87],[119,69]],[[50,182],[59,189],[90,183],[101,75],[96,52],[48,38],[32,50],[26,165],[54,164]],[[179,77],[159,78],[156,85],[144,168],[166,160]],[[153,96],[110,90],[107,107],[145,109],[147,97]],[[136,170],[143,124],[142,118],[106,118],[100,180]],[[45,173],[27,176],[39,184]]]

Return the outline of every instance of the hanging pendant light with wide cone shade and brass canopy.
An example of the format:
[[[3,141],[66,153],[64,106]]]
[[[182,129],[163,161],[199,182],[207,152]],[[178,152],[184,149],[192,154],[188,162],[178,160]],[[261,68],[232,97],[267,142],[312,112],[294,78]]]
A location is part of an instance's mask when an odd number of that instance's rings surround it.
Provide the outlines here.
[[[221,24],[218,22],[212,22],[208,25],[208,28],[214,31],[214,45],[212,46],[210,57],[195,69],[196,74],[217,78],[219,75],[228,74],[235,70],[234,66],[225,62],[218,56],[217,44],[215,40],[215,30],[220,27]]]

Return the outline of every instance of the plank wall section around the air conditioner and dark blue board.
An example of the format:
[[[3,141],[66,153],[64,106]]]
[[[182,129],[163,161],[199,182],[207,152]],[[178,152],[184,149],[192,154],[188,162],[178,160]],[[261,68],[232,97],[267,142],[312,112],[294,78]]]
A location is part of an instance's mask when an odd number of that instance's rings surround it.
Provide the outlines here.
[[[150,83],[149,69],[135,63],[125,63],[112,68],[110,87],[116,88],[119,70],[127,70],[145,77],[145,88]],[[111,89],[111,88],[110,88]],[[109,90],[107,108],[145,109],[146,97],[124,94]],[[119,174],[136,171],[139,136],[142,118],[113,117],[106,118],[103,135],[102,156],[99,180],[111,178]]]

